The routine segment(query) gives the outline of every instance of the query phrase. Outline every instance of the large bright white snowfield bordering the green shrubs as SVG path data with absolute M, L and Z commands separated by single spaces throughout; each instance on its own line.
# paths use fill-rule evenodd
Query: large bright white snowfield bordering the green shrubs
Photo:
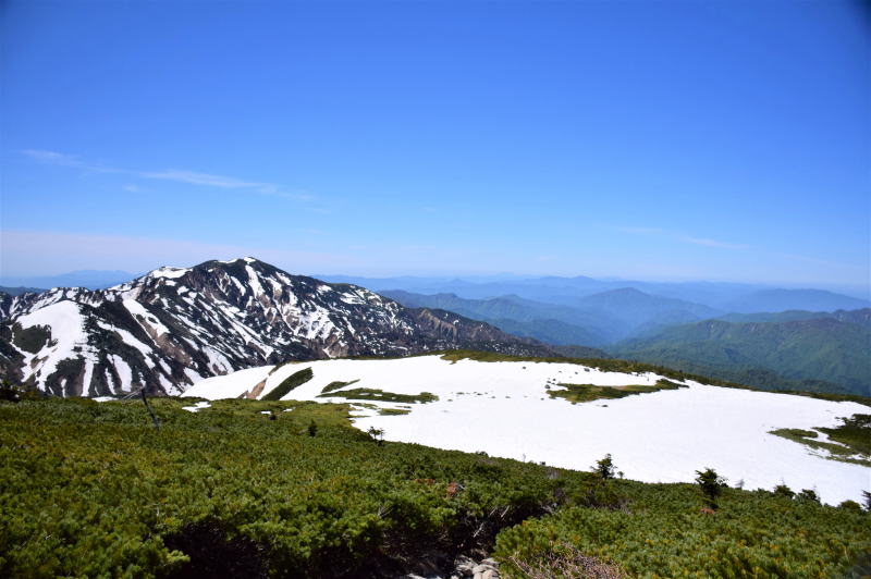
M 837 504 L 861 500 L 871 490 L 871 469 L 826 459 L 823 452 L 770 434 L 781 428 L 834 427 L 838 418 L 868 414 L 856 403 L 835 403 L 686 382 L 689 387 L 572 404 L 551 398 L 555 383 L 603 386 L 649 384 L 652 373 L 603 372 L 573 364 L 499 361 L 451 362 L 440 356 L 388 360 L 318 360 L 265 366 L 209 378 L 184 396 L 236 398 L 266 380 L 260 397 L 294 372 L 311 368 L 314 378 L 283 399 L 348 402 L 318 397 L 331 382 L 358 382 L 342 390 L 378 389 L 397 394 L 429 392 L 427 404 L 360 401 L 407 408 L 406 415 L 379 415 L 358 407 L 354 423 L 384 430 L 390 441 L 588 470 L 611 454 L 628 479 L 688 482 L 696 470 L 714 468 L 735 485 L 768 489 L 785 483 L 814 489 Z M 271 373 L 270 373 L 271 372 Z M 341 392 L 341 390 L 339 391 Z M 203 411 L 208 411 L 204 409 Z M 821 434 L 824 440 L 824 435 Z

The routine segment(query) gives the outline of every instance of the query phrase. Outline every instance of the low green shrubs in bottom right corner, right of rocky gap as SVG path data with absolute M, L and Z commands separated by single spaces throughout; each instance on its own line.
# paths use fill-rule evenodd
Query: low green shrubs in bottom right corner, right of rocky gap
M 495 556 L 511 577 L 867 577 L 871 531 L 858 504 L 826 507 L 698 475 L 698 485 L 588 483 L 555 514 L 502 531 Z

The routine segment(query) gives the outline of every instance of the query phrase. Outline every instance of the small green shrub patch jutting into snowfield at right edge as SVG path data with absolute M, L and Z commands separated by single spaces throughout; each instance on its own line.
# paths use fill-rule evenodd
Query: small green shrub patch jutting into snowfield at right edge
M 810 448 L 827 451 L 825 457 L 832 460 L 871 467 L 871 415 L 852 415 L 849 418 L 842 418 L 841 422 L 835 428 L 814 429 L 834 442 L 817 440 L 820 434 L 814 430 L 782 428 L 771 433 Z

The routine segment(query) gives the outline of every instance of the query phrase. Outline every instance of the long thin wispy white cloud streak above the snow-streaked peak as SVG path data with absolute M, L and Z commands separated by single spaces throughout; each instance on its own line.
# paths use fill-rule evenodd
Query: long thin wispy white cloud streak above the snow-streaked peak
M 56 151 L 26 149 L 21 151 L 36 161 L 49 163 L 60 167 L 72 167 L 84 169 L 87 171 L 100 173 L 124 173 L 134 177 L 171 181 L 174 183 L 184 183 L 187 185 L 199 185 L 206 187 L 218 187 L 222 189 L 246 189 L 261 195 L 274 195 L 277 197 L 284 197 L 287 199 L 296 199 L 300 201 L 311 200 L 315 197 L 308 192 L 302 190 L 287 190 L 273 183 L 262 183 L 254 181 L 245 181 L 236 177 L 229 177 L 224 175 L 212 175 L 209 173 L 199 173 L 196 171 L 185 171 L 180 169 L 167 169 L 163 171 L 133 171 L 130 169 L 118 169 L 106 167 L 96 163 L 89 163 L 81 158 Z M 135 193 L 136 185 L 124 186 L 126 190 Z

